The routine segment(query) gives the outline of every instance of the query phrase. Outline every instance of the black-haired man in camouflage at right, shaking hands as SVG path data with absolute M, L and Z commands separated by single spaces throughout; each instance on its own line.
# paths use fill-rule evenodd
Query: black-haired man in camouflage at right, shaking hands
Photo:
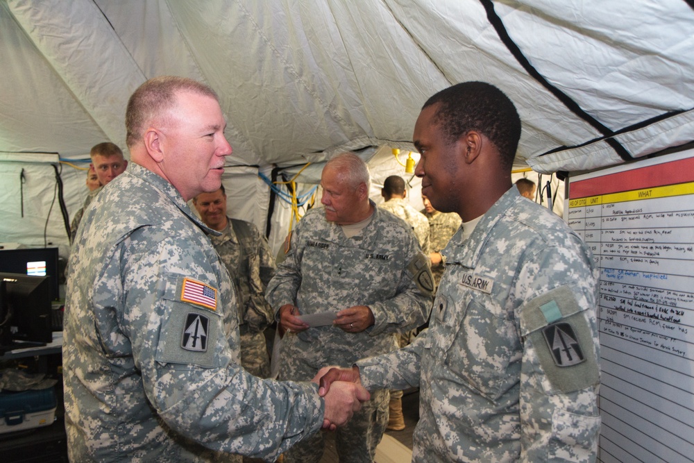
M 409 346 L 332 369 L 367 389 L 420 387 L 414 462 L 592 462 L 600 431 L 598 273 L 581 238 L 511 183 L 521 120 L 482 82 L 448 87 L 414 127 L 415 174 L 461 230 L 430 327 Z

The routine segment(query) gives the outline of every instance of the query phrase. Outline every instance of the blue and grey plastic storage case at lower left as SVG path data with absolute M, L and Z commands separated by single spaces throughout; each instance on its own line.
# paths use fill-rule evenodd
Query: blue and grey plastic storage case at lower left
M 55 416 L 56 391 L 53 387 L 0 392 L 0 434 L 49 426 Z

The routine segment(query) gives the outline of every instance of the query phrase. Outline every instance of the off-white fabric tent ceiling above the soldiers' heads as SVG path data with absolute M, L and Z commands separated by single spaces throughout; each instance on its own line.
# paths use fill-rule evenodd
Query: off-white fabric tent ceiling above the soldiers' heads
M 425 99 L 469 80 L 514 100 L 517 164 L 537 171 L 694 140 L 682 0 L 0 0 L 0 63 L 10 153 L 124 147 L 128 96 L 162 74 L 219 92 L 230 165 L 412 149 Z

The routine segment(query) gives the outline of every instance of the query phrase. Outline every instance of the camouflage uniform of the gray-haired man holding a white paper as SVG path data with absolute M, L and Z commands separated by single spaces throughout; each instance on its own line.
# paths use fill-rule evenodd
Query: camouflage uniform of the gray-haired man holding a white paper
M 369 355 L 392 351 L 397 332 L 420 326 L 432 303 L 431 271 L 407 224 L 375 208 L 371 222 L 348 239 L 325 221 L 323 208 L 310 210 L 291 234 L 266 298 L 273 308 L 294 304 L 301 314 L 339 312 L 368 305 L 375 324 L 349 333 L 333 326 L 309 328 L 282 339 L 280 378 L 310 379 L 321 367 L 350 366 Z M 387 390 L 372 393 L 346 426 L 337 430 L 341 462 L 371 462 L 388 420 Z M 318 462 L 321 434 L 285 453 L 287 462 Z

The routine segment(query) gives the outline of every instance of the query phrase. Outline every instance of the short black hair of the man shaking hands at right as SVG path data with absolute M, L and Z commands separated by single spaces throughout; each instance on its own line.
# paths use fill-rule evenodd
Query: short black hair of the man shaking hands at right
M 463 82 L 434 94 L 422 109 L 436 104 L 439 108 L 432 122 L 440 124 L 447 142 L 456 142 L 468 131 L 480 131 L 498 149 L 502 165 L 513 166 L 521 118 L 504 92 L 486 82 Z

